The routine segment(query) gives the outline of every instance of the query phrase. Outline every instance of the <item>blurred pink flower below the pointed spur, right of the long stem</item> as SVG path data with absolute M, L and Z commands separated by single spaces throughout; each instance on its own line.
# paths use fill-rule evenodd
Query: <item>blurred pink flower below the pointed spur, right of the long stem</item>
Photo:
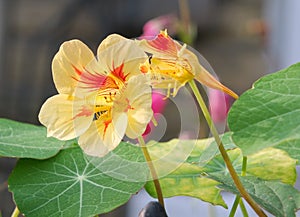
M 208 89 L 209 110 L 215 123 L 226 121 L 232 98 L 216 89 Z

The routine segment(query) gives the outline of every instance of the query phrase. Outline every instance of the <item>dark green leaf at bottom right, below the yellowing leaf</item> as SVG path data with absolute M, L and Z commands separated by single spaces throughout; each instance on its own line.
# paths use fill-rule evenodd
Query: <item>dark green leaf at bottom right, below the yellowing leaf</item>
M 228 175 L 213 175 L 212 178 L 222 183 L 220 188 L 238 194 Z M 252 198 L 274 216 L 294 217 L 295 212 L 300 209 L 300 192 L 293 186 L 256 177 L 240 178 Z

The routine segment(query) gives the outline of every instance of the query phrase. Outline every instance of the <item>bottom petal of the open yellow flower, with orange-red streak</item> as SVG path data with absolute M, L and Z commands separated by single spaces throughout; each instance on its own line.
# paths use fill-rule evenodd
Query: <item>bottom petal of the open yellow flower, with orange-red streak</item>
M 79 137 L 78 144 L 90 156 L 103 157 L 121 142 L 127 126 L 127 117 L 121 115 L 117 124 L 109 120 L 93 121 L 90 128 Z

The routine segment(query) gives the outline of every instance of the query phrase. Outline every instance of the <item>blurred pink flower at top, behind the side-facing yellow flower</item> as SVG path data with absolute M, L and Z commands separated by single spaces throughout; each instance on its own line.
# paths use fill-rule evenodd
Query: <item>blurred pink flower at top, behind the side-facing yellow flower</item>
M 143 34 L 140 39 L 151 39 L 159 34 L 162 29 L 168 29 L 168 32 L 172 35 L 176 32 L 177 18 L 172 14 L 162 15 L 154 19 L 149 20 L 143 27 Z

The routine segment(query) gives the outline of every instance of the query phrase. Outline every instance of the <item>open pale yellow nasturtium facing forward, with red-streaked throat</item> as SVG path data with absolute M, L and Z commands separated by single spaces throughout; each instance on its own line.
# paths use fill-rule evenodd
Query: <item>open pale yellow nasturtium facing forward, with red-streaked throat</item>
M 139 70 L 146 59 L 134 41 L 117 34 L 101 42 L 96 57 L 79 40 L 64 42 L 52 62 L 58 94 L 39 113 L 47 135 L 79 137 L 84 152 L 99 157 L 125 134 L 141 136 L 153 116 L 149 80 Z

